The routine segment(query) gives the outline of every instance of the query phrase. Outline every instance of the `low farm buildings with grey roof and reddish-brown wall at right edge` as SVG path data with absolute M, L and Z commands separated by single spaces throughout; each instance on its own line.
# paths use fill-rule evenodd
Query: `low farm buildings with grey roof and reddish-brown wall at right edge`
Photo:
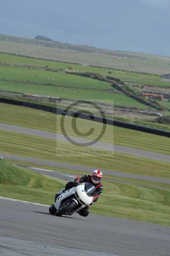
M 142 91 L 143 96 L 147 96 L 154 100 L 170 101 L 170 91 L 158 90 L 152 87 L 144 87 Z

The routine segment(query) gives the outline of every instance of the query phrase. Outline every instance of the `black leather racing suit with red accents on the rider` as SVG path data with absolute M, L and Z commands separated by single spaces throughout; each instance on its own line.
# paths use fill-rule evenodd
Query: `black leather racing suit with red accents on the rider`
M 82 183 L 82 182 L 88 182 L 88 183 L 91 183 L 93 186 L 95 186 L 96 188 L 96 194 L 95 196 L 93 197 L 93 202 L 96 202 L 98 200 L 98 196 L 102 193 L 103 191 L 103 185 L 102 183 L 93 183 L 93 181 L 91 180 L 91 175 L 84 175 L 83 177 L 81 178 L 77 178 L 74 180 L 74 182 L 78 182 L 78 183 Z M 89 206 L 87 207 L 84 207 L 82 210 L 80 210 L 78 213 L 83 216 L 83 217 L 86 217 L 88 214 L 89 214 Z

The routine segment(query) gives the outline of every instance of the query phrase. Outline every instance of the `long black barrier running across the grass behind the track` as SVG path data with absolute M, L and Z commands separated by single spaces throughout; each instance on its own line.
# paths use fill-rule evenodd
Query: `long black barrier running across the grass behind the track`
M 99 123 L 106 123 L 106 124 L 115 125 L 115 126 L 122 127 L 122 128 L 127 128 L 127 129 L 140 131 L 140 132 L 147 132 L 147 133 L 156 134 L 156 135 L 165 136 L 165 137 L 170 138 L 170 132 L 168 132 L 168 131 L 159 130 L 159 129 L 155 129 L 155 128 L 151 128 L 151 127 L 147 127 L 147 126 L 143 126 L 143 125 L 126 123 L 123 121 L 113 120 L 111 118 L 102 118 L 101 116 L 90 116 L 88 114 L 83 114 L 81 112 L 75 112 L 75 111 L 68 111 L 66 113 L 66 112 L 64 112 L 64 109 L 62 109 L 62 108 L 55 108 L 55 107 L 50 107 L 50 106 L 46 106 L 46 105 L 42 105 L 42 104 L 25 102 L 25 101 L 20 101 L 20 100 L 0 98 L 0 102 L 29 107 L 29 108 L 41 109 L 41 110 L 52 112 L 52 113 L 55 113 L 58 115 L 66 115 L 67 114 L 67 116 L 79 117 L 82 119 L 87 119 L 87 120 L 91 120 L 91 121 L 95 121 L 95 122 L 99 122 Z

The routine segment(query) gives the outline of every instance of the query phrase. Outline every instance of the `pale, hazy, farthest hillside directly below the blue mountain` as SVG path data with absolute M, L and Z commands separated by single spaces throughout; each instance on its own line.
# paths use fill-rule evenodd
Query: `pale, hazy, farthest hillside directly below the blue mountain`
M 165 58 L 151 54 L 108 51 L 95 47 L 4 35 L 0 35 L 0 52 L 79 63 L 82 66 L 94 65 L 145 72 L 153 75 L 169 73 L 170 63 L 170 58 L 168 57 Z

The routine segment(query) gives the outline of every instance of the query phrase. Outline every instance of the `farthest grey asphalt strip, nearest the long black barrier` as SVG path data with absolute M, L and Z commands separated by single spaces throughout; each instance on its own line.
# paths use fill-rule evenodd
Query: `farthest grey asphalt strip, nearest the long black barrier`
M 31 128 L 25 128 L 25 127 L 21 127 L 21 126 L 17 126 L 17 125 L 0 123 L 0 129 L 6 130 L 6 131 L 11 131 L 11 132 L 19 132 L 19 133 L 23 133 L 23 134 L 29 134 L 29 135 L 43 137 L 43 138 L 52 139 L 52 140 L 60 140 L 60 141 L 68 142 L 66 140 L 66 138 L 64 137 L 64 135 L 62 135 L 62 134 L 53 133 L 53 132 L 45 132 L 45 131 L 35 130 L 35 129 L 31 129 Z M 90 140 L 85 140 L 85 139 L 81 139 L 81 138 L 77 138 L 77 137 L 73 137 L 73 136 L 70 136 L 70 138 L 79 143 L 90 142 Z M 168 156 L 168 155 L 158 154 L 155 152 L 145 151 L 145 150 L 141 150 L 141 149 L 123 147 L 123 146 L 119 146 L 119 145 L 112 145 L 112 144 L 104 143 L 104 142 L 100 142 L 100 141 L 95 143 L 92 147 L 98 148 L 98 149 L 112 150 L 114 152 L 119 152 L 119 153 L 128 154 L 128 155 L 132 155 L 132 156 L 140 156 L 140 157 L 144 157 L 144 158 L 149 158 L 149 159 L 153 159 L 153 160 L 159 160 L 159 161 L 170 163 L 170 156 Z

